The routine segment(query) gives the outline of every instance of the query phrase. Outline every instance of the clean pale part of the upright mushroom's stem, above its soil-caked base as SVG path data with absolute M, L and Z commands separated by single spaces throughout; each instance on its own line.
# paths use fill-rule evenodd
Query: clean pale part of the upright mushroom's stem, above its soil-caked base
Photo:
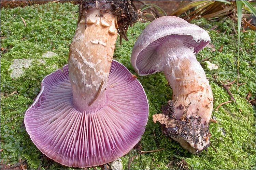
M 185 106 L 191 103 L 186 117 L 201 116 L 202 123 L 206 121 L 208 125 L 213 109 L 212 90 L 193 49 L 185 47 L 179 39 L 172 39 L 161 45 L 160 50 L 165 51 L 161 58 L 168 54 L 163 71 L 173 91 L 172 100 L 176 101 L 176 119 L 182 118 Z

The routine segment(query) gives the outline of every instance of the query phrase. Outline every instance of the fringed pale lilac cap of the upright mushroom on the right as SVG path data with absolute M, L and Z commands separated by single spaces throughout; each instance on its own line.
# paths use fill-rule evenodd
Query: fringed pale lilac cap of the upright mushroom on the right
M 182 18 L 163 16 L 152 21 L 138 37 L 131 53 L 131 64 L 139 75 L 162 71 L 162 61 L 156 50 L 170 39 L 178 38 L 195 54 L 210 42 L 210 36 L 202 28 Z

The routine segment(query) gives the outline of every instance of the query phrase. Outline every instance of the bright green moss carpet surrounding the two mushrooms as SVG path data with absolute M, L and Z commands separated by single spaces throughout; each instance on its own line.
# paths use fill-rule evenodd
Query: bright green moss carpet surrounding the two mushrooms
M 1 52 L 1 158 L 4 163 L 16 163 L 18 158 L 26 159 L 29 169 L 37 169 L 42 159 L 42 153 L 30 140 L 24 126 L 24 111 L 32 104 L 38 95 L 42 79 L 49 73 L 67 64 L 69 46 L 76 29 L 78 8 L 71 3 L 47 3 L 44 5 L 26 6 L 24 8 L 1 9 L 1 47 L 8 52 Z M 21 19 L 26 21 L 26 27 Z M 223 22 L 210 22 L 205 19 L 193 20 L 193 23 L 209 31 L 211 43 L 216 51 L 205 48 L 197 54 L 198 61 L 205 57 L 211 57 L 211 63 L 217 64 L 217 70 L 203 68 L 209 79 L 213 97 L 214 109 L 221 103 L 230 100 L 223 87 L 214 81 L 221 80 L 224 83 L 237 79 L 237 35 L 233 33 L 232 20 Z M 148 23 L 136 23 L 128 30 L 129 41 L 119 44 L 116 41 L 114 59 L 124 64 L 131 73 L 135 74 L 130 55 L 132 47 L 141 31 Z M 210 30 L 218 25 L 218 33 Z M 235 27 L 236 28 L 236 27 Z M 35 39 L 37 38 L 37 40 Z M 25 39 L 22 39 L 25 38 Z M 210 123 L 212 133 L 211 142 L 218 153 L 209 147 L 208 152 L 200 155 L 190 154 L 179 143 L 170 140 L 162 134 L 159 123 L 152 121 L 152 115 L 160 112 L 162 105 L 172 99 L 172 90 L 167 85 L 167 80 L 162 72 L 138 76 L 143 85 L 149 103 L 149 118 L 145 133 L 139 144 L 143 151 L 165 148 L 165 150 L 139 154 L 137 149 L 132 149 L 121 157 L 123 167 L 127 169 L 131 156 L 133 159 L 131 169 L 176 169 L 178 162 L 184 159 L 188 168 L 193 169 L 255 169 L 255 107 L 246 101 L 246 94 L 251 91 L 255 98 L 255 31 L 241 32 L 240 42 L 240 77 L 239 86 L 236 84 L 230 88 L 236 99 L 236 103 L 228 103 L 214 111 L 212 116 L 218 124 Z M 222 48 L 222 52 L 218 49 Z M 52 50 L 54 47 L 54 50 Z M 57 53 L 57 56 L 43 58 L 46 51 Z M 14 59 L 27 58 L 33 60 L 32 66 L 24 69 L 25 72 L 16 79 L 10 78 L 10 66 Z M 43 60 L 45 64 L 38 60 Z M 5 98 L 2 95 L 14 94 Z M 241 110 L 241 111 L 240 111 Z M 20 116 L 18 116 L 20 115 Z M 16 117 L 15 117 L 16 116 Z M 5 122 L 8 121 L 8 122 Z M 77 169 L 62 166 L 53 160 L 44 158 L 42 169 Z M 90 168 L 93 169 L 93 168 Z M 100 169 L 98 166 L 97 169 Z

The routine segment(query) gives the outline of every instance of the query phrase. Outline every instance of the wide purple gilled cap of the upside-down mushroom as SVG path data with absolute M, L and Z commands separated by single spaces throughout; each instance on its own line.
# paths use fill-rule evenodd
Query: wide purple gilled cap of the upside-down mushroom
M 62 71 L 63 70 L 63 71 Z M 49 158 L 66 166 L 91 167 L 128 153 L 141 139 L 148 102 L 140 82 L 112 61 L 102 108 L 74 108 L 68 65 L 47 75 L 24 117 L 33 143 Z

